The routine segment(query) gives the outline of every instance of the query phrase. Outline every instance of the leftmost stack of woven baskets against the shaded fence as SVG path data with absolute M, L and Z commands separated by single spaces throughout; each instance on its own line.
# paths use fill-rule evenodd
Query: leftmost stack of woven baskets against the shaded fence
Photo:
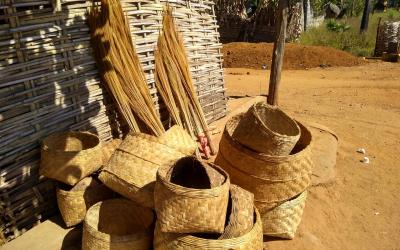
M 58 181 L 57 204 L 67 227 L 81 223 L 95 203 L 113 197 L 95 172 L 119 143 L 116 139 L 102 144 L 88 132 L 57 133 L 43 140 L 40 173 Z

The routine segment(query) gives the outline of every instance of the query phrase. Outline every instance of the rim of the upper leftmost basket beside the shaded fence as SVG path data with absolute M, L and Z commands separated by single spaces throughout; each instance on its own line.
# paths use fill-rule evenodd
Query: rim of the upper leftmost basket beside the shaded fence
M 73 151 L 65 151 L 65 150 L 55 149 L 55 148 L 49 147 L 51 145 L 51 143 L 49 143 L 49 142 L 54 140 L 55 137 L 57 137 L 57 136 L 61 136 L 61 135 L 82 135 L 82 134 L 91 136 L 92 138 L 95 138 L 96 139 L 96 145 L 94 145 L 93 147 L 86 148 L 86 149 L 73 150 Z M 81 153 L 81 152 L 91 151 L 91 150 L 99 147 L 100 144 L 101 144 L 100 138 L 94 133 L 91 133 L 91 132 L 88 132 L 88 131 L 66 131 L 66 132 L 53 133 L 53 134 L 47 136 L 42 142 L 42 150 L 45 150 L 45 151 L 48 151 L 48 152 L 63 153 L 63 154 L 77 154 L 77 153 Z

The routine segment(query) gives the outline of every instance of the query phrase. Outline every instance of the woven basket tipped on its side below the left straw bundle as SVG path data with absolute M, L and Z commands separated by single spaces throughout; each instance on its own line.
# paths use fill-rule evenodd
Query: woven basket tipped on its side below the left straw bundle
M 160 143 L 155 136 L 129 134 L 103 168 L 99 178 L 122 196 L 153 208 L 157 169 L 184 156 L 176 149 Z

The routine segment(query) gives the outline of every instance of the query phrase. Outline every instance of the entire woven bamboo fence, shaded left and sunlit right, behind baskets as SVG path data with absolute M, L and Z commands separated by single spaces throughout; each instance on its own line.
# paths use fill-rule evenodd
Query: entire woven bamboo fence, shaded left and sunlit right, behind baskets
M 165 2 L 123 1 L 161 116 L 153 51 Z M 225 115 L 226 98 L 214 5 L 200 0 L 169 3 L 183 31 L 206 118 L 216 120 Z M 53 184 L 38 174 L 44 137 L 88 130 L 105 141 L 121 134 L 92 55 L 86 15 L 91 4 L 0 0 L 0 229 L 7 240 L 57 211 Z

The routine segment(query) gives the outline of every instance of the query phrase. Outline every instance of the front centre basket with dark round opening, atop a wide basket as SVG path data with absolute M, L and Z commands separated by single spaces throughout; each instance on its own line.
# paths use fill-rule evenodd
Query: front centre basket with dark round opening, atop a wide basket
M 154 193 L 160 230 L 222 233 L 229 185 L 229 176 L 224 170 L 194 157 L 160 167 Z

